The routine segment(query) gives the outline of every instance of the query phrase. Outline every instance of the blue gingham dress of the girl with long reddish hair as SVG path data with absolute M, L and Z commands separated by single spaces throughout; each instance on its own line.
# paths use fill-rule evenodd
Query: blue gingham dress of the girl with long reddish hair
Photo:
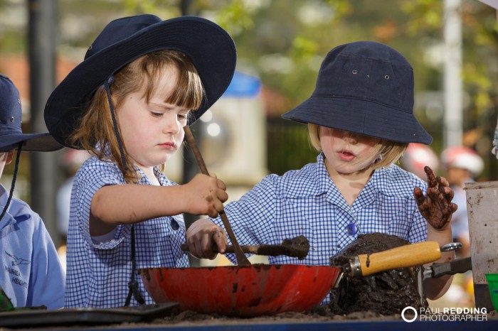
M 140 171 L 140 170 L 139 170 Z M 152 185 L 140 171 L 139 185 Z M 154 174 L 164 186 L 176 185 L 158 168 Z M 89 229 L 90 203 L 95 192 L 105 185 L 124 184 L 117 165 L 93 156 L 75 177 L 71 192 L 68 228 L 67 281 L 65 306 L 112 308 L 123 306 L 132 273 L 131 225 L 118 225 L 109 242 L 92 242 Z M 185 224 L 181 215 L 158 217 L 134 224 L 135 261 L 139 268 L 186 267 L 189 259 L 180 245 L 185 242 Z M 154 301 L 135 276 L 145 303 Z M 138 305 L 132 300 L 130 305 Z

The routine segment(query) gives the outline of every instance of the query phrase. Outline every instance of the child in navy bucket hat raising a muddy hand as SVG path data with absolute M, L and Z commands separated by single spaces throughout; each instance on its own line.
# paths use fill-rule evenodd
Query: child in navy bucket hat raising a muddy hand
M 428 188 L 393 164 L 408 143 L 432 140 L 413 116 L 413 70 L 396 50 L 370 41 L 337 46 L 324 59 L 312 96 L 283 117 L 308 125 L 320 152 L 317 163 L 269 175 L 226 205 L 240 244 L 280 244 L 304 235 L 311 246 L 306 259 L 270 256 L 270 263 L 329 265 L 359 234 L 452 242 L 456 206 L 447 181 L 427 169 Z M 196 230 L 209 223 L 194 223 L 187 242 L 198 240 L 202 232 Z M 193 253 L 203 256 L 210 249 L 206 243 Z M 441 261 L 450 259 L 452 252 L 443 253 Z M 449 282 L 428 280 L 428 298 L 443 295 Z

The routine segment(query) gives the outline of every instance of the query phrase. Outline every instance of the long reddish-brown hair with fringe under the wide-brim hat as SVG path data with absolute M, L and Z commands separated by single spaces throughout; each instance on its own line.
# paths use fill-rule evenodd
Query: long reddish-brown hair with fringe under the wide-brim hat
M 177 50 L 157 50 L 125 65 L 113 76 L 110 91 L 112 100 L 115 102 L 116 112 L 119 112 L 119 106 L 124 102 L 127 94 L 138 92 L 142 88 L 144 88 L 143 97 L 146 102 L 149 102 L 149 99 L 156 92 L 161 74 L 167 66 L 176 67 L 179 77 L 174 91 L 164 102 L 193 110 L 201 107 L 204 89 L 201 78 L 191 60 Z M 121 136 L 119 121 L 117 124 Z M 133 163 L 123 143 L 124 160 L 128 165 L 127 170 L 124 169 L 109 101 L 103 85 L 92 96 L 85 115 L 80 119 L 77 129 L 70 135 L 69 141 L 74 146 L 79 145 L 80 148 L 89 151 L 102 161 L 116 163 L 127 183 L 137 183 L 139 179 L 137 170 L 132 166 Z M 105 146 L 109 146 L 110 156 L 105 155 Z M 161 165 L 160 168 L 161 171 L 164 170 L 164 165 Z

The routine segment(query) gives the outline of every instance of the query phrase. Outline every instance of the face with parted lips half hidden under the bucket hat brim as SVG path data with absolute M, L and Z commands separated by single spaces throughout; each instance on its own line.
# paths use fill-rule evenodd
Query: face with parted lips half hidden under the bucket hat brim
M 320 144 L 328 168 L 337 173 L 356 173 L 369 168 L 377 158 L 377 139 L 349 131 L 320 126 Z

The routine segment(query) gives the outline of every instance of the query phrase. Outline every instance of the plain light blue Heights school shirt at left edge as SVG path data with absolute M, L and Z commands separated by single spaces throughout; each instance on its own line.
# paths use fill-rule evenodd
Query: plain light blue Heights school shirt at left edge
M 0 210 L 8 197 L 0 185 Z M 41 217 L 15 198 L 0 221 L 0 264 L 0 286 L 14 307 L 63 307 L 65 273 L 50 234 Z

